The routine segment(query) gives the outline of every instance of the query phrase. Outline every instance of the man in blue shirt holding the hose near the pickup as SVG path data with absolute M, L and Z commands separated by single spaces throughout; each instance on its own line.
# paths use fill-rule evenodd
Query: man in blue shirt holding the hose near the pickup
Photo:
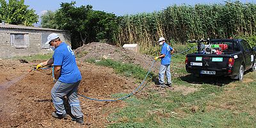
M 170 45 L 166 44 L 165 39 L 163 37 L 159 38 L 158 43 L 159 43 L 159 45 L 162 45 L 160 56 L 154 58 L 154 60 L 161 58 L 161 65 L 159 68 L 159 85 L 158 86 L 162 87 L 162 88 L 166 88 L 167 86 L 172 87 L 170 62 L 172 59 L 172 54 L 174 52 L 174 49 Z M 164 73 L 166 73 L 166 77 L 167 77 L 166 84 L 164 84 Z

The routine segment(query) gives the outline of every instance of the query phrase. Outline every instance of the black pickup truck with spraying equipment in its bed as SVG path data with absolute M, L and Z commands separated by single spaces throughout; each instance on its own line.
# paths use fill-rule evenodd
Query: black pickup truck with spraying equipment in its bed
M 200 76 L 230 76 L 243 80 L 245 70 L 256 68 L 255 47 L 243 39 L 193 40 L 198 51 L 186 56 L 186 71 Z

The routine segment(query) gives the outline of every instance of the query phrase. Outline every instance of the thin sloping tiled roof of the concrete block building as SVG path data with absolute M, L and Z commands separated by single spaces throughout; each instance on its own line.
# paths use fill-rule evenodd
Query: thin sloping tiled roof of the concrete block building
M 1 28 L 10 28 L 10 29 L 31 29 L 31 30 L 45 30 L 45 31 L 63 31 L 59 29 L 51 29 L 51 28 L 39 28 L 39 27 L 31 27 L 31 26 L 18 26 L 18 25 L 13 25 L 13 24 L 0 24 L 0 29 Z

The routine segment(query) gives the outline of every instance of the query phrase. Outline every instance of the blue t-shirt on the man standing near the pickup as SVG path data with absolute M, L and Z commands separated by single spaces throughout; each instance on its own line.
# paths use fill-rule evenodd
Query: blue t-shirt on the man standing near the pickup
M 161 65 L 170 65 L 171 62 L 171 58 L 172 58 L 172 54 L 171 51 L 173 50 L 173 48 L 164 43 L 161 49 L 161 54 L 165 54 L 164 58 L 161 58 Z

